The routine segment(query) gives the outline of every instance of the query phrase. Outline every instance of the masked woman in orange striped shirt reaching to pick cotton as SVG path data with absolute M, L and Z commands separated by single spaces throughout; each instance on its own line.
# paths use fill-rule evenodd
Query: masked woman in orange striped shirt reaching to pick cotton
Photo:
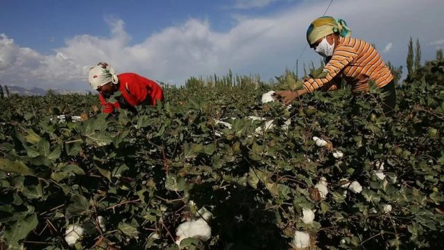
M 384 99 L 384 113 L 395 108 L 395 83 L 390 69 L 376 49 L 363 40 L 350 38 L 350 29 L 342 19 L 320 17 L 307 30 L 307 41 L 311 48 L 325 58 L 325 76 L 306 78 L 304 88 L 296 91 L 279 91 L 284 103 L 315 90 L 336 90 L 341 78 L 352 85 L 354 92 L 368 91 L 369 82 L 375 81 L 377 88 L 388 92 Z

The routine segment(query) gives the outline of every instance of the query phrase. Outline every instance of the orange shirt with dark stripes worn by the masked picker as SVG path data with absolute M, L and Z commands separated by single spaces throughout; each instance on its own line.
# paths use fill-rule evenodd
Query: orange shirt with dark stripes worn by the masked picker
M 367 42 L 356 38 L 339 37 L 333 56 L 325 65 L 325 78 L 307 78 L 304 87 L 313 92 L 318 88 L 335 90 L 338 77 L 352 85 L 353 91 L 368 91 L 368 82 L 375 81 L 382 88 L 393 79 L 390 69 L 382 61 L 376 49 Z

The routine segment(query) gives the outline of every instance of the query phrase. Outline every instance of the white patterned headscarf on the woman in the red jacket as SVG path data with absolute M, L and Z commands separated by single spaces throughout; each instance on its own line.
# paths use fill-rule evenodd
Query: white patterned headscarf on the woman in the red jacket
M 97 66 L 89 69 L 89 85 L 97 90 L 106 83 L 119 83 L 119 78 L 114 69 L 108 63 L 99 63 Z

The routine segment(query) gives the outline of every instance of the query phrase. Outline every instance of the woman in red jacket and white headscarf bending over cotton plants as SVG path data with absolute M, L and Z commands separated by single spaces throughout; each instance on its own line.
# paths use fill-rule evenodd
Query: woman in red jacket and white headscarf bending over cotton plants
M 135 111 L 135 106 L 163 101 L 163 90 L 148 78 L 135 73 L 117 74 L 108 63 L 99 63 L 89 69 L 89 85 L 99 91 L 99 99 L 104 113 L 114 113 L 117 108 Z M 106 101 L 114 92 L 120 91 L 117 102 Z

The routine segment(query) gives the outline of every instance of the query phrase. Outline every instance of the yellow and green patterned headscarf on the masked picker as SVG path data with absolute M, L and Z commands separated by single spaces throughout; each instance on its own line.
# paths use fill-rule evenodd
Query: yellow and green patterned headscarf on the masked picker
M 311 45 L 317 40 L 330 35 L 339 33 L 342 37 L 349 37 L 352 34 L 347 23 L 343 19 L 334 19 L 333 17 L 319 17 L 314 20 L 307 29 L 307 42 Z

